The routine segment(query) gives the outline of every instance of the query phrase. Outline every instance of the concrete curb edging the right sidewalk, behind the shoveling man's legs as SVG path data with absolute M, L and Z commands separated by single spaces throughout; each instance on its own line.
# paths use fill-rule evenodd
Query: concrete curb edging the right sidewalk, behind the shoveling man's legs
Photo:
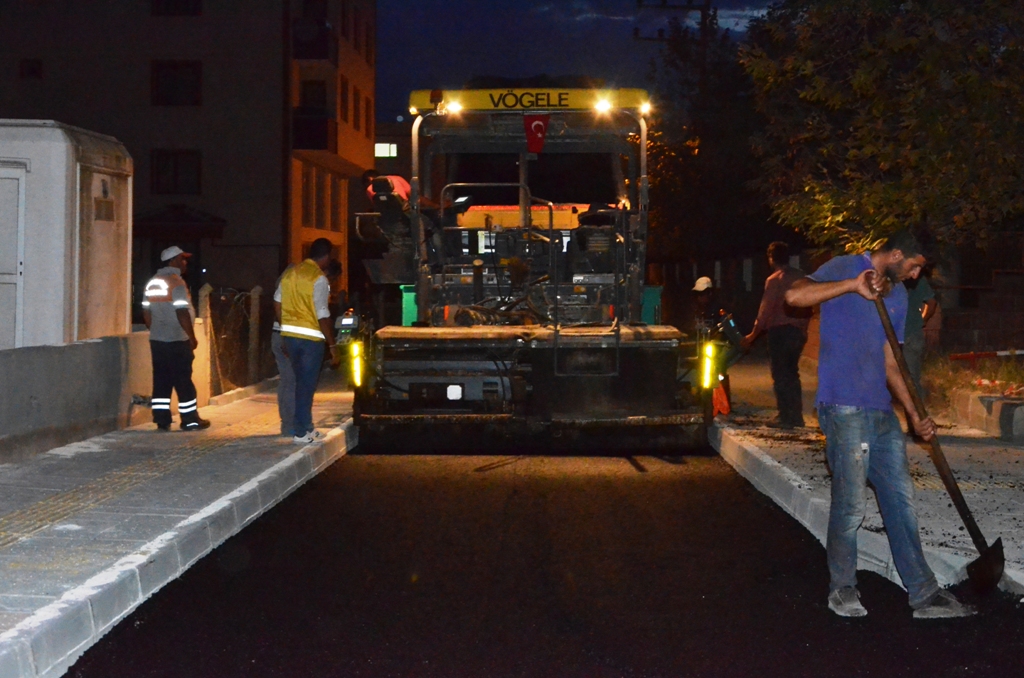
M 708 434 L 712 447 L 722 459 L 759 492 L 796 518 L 824 546 L 828 532 L 827 501 L 813 497 L 811 486 L 803 478 L 757 446 L 740 441 L 731 428 L 716 424 Z M 896 585 L 903 586 L 885 535 L 861 528 L 857 534 L 857 546 L 858 569 L 878 573 Z M 967 563 L 973 560 L 929 548 L 927 545 L 925 558 L 935 571 L 940 586 L 950 586 L 967 579 Z M 1024 593 L 1024 571 L 1007 569 L 999 588 L 1018 594 Z

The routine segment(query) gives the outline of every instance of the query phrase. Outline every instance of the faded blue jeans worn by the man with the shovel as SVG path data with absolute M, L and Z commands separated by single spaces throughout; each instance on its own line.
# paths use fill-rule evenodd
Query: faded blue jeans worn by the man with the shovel
M 818 421 L 833 474 L 825 546 L 830 590 L 857 585 L 857 528 L 864 521 L 869 481 L 910 606 L 921 606 L 939 586 L 921 548 L 906 438 L 896 414 L 819 404 Z

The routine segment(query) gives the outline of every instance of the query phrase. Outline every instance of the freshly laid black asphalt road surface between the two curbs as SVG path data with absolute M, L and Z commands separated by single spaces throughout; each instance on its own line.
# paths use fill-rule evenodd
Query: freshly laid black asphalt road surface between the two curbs
M 821 546 L 718 458 L 349 455 L 72 668 L 118 676 L 1013 676 L 1015 598 L 825 606 Z

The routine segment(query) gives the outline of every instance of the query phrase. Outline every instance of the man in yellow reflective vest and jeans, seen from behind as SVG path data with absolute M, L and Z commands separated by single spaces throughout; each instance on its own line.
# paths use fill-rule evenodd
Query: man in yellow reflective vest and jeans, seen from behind
M 324 435 L 313 428 L 312 410 L 325 344 L 331 350 L 332 367 L 341 362 L 328 307 L 331 286 L 325 276 L 333 247 L 326 238 L 313 241 L 309 257 L 286 270 L 273 293 L 284 353 L 295 374 L 292 440 L 299 444 L 313 442 Z

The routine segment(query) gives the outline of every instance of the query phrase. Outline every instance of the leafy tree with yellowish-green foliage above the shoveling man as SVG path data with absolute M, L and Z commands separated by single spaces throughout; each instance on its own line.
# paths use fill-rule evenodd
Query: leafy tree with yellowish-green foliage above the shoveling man
M 840 249 L 906 225 L 984 240 L 1024 209 L 1024 3 L 783 0 L 740 60 L 766 117 L 761 188 Z

